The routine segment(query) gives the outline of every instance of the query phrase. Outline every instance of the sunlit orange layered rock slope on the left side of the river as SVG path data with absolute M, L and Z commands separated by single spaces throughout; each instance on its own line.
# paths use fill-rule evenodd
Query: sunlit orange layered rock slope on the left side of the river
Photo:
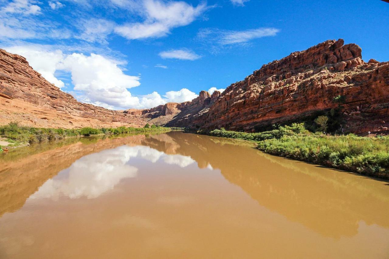
M 80 103 L 47 82 L 22 56 L 0 49 L 0 125 L 18 121 L 25 126 L 77 128 L 139 127 L 139 115 Z

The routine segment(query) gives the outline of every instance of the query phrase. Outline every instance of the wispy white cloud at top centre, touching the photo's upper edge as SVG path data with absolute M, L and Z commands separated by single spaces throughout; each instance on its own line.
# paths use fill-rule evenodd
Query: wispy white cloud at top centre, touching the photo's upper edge
M 206 9 L 205 3 L 193 7 L 182 1 L 144 0 L 145 21 L 117 26 L 115 32 L 129 40 L 163 37 L 173 28 L 189 25 Z

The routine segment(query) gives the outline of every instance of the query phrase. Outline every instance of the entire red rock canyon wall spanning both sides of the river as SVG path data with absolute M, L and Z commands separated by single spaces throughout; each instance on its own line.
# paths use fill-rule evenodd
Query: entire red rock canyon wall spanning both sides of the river
M 192 101 L 112 111 L 76 101 L 47 82 L 26 59 L 0 50 L 0 124 L 143 126 L 258 131 L 337 111 L 343 132 L 385 133 L 389 127 L 389 62 L 362 60 L 362 50 L 327 40 L 275 60 L 223 93 L 201 91 Z

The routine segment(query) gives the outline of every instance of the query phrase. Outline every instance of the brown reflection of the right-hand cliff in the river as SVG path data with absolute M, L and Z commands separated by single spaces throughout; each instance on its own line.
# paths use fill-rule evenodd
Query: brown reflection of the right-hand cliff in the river
M 389 228 L 389 186 L 347 172 L 248 152 L 237 140 L 178 133 L 145 139 L 150 147 L 219 169 L 258 203 L 324 236 L 358 232 L 360 221 Z

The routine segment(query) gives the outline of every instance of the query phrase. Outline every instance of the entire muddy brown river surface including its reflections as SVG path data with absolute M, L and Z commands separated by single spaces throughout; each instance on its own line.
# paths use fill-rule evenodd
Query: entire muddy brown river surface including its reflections
M 0 155 L 0 258 L 389 258 L 389 184 L 180 132 Z

